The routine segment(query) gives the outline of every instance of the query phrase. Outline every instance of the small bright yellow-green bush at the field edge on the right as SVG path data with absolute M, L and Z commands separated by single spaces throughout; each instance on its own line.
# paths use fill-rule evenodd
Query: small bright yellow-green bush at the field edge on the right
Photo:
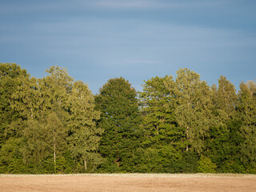
M 217 166 L 214 162 L 207 158 L 206 156 L 201 156 L 198 161 L 198 172 L 199 173 L 216 173 Z

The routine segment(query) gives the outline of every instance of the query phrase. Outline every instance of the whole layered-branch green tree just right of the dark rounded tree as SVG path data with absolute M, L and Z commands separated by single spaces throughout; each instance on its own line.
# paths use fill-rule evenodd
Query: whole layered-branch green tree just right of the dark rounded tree
M 155 158 L 152 158 L 155 162 L 144 162 L 146 166 L 151 166 L 151 171 L 158 172 L 173 169 L 171 163 L 182 157 L 181 152 L 184 148 L 184 135 L 174 118 L 173 94 L 166 89 L 166 83 L 174 83 L 173 78 L 151 78 L 145 82 L 139 95 L 145 133 L 143 148 L 146 154 L 151 149 L 155 155 Z

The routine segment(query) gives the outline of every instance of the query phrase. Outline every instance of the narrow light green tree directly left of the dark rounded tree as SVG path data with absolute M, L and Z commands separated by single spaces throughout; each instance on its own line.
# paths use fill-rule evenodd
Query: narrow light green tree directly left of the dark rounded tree
M 102 129 L 96 127 L 100 112 L 94 110 L 94 95 L 83 82 L 74 82 L 70 98 L 70 153 L 83 171 L 94 171 L 102 163 L 98 146 Z M 81 170 L 80 170 L 81 171 Z

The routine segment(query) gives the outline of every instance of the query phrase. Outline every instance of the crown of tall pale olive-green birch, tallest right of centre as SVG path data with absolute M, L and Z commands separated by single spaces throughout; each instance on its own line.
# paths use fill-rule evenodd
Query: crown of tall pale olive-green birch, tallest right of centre
M 175 84 L 170 84 L 176 99 L 175 118 L 186 133 L 186 151 L 189 148 L 202 153 L 212 123 L 210 87 L 200 81 L 199 74 L 188 69 L 177 71 Z

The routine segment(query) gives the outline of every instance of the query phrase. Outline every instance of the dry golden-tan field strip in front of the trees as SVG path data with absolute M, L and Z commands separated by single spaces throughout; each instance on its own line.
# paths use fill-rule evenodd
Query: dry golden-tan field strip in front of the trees
M 0 175 L 0 191 L 256 191 L 256 175 L 71 174 Z

